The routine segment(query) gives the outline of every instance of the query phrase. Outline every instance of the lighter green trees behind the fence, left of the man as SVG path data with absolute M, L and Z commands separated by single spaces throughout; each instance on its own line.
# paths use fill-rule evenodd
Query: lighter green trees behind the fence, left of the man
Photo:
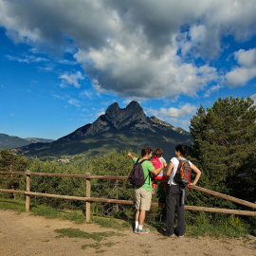
M 133 162 L 127 156 L 128 152 L 118 154 L 115 150 L 106 154 L 98 155 L 94 158 L 85 158 L 82 155 L 76 162 L 69 164 L 59 163 L 56 161 L 41 162 L 40 159 L 34 158 L 29 169 L 32 173 L 47 174 L 93 174 L 93 175 L 113 175 L 128 176 L 133 167 Z M 67 177 L 30 177 L 30 191 L 43 192 L 52 194 L 63 194 L 71 196 L 86 196 L 86 181 L 82 178 Z M 26 190 L 26 176 L 20 182 L 22 190 Z M 91 196 L 132 200 L 134 189 L 127 180 L 91 180 Z M 79 209 L 84 210 L 85 204 L 81 201 L 62 200 L 57 198 L 46 198 L 40 196 L 31 197 L 31 202 L 44 204 L 59 209 Z M 110 203 L 93 203 L 92 213 L 97 215 L 113 215 L 127 220 L 133 218 L 133 209 L 131 206 L 115 205 Z

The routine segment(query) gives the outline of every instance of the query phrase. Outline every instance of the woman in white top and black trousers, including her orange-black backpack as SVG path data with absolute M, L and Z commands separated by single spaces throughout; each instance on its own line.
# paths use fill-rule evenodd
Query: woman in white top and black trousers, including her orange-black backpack
M 186 186 L 194 186 L 200 175 L 201 171 L 192 164 L 191 161 L 185 158 L 188 147 L 185 145 L 177 145 L 175 147 L 175 155 L 171 159 L 170 165 L 167 170 L 167 177 L 169 177 L 167 191 L 166 191 L 166 236 L 174 236 L 174 213 L 175 205 L 177 209 L 177 236 L 183 237 L 186 232 L 185 223 L 185 209 L 184 204 L 186 200 Z M 184 166 L 184 170 L 181 170 Z M 191 172 L 194 172 L 195 178 L 191 183 Z M 189 173 L 189 174 L 188 174 Z

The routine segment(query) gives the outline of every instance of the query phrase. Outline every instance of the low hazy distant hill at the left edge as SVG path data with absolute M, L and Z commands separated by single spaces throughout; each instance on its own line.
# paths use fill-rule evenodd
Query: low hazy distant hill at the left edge
M 21 137 L 0 134 L 0 150 L 18 148 L 18 147 L 29 145 L 31 143 L 52 142 L 52 141 L 54 140 L 46 139 L 46 138 L 38 138 L 38 137 L 21 138 Z

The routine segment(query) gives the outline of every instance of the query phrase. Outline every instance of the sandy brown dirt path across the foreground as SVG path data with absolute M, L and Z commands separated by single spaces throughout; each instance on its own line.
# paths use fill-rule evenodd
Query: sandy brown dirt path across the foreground
M 109 232 L 114 235 L 93 239 L 59 237 L 56 229 Z M 121 234 L 119 236 L 117 233 Z M 89 245 L 91 247 L 84 246 Z M 82 249 L 83 247 L 83 249 Z M 137 235 L 132 230 L 101 228 L 97 224 L 77 225 L 62 219 L 46 219 L 27 212 L 0 210 L 0 255 L 218 255 L 256 256 L 256 238 L 212 239 L 166 238 L 157 231 Z

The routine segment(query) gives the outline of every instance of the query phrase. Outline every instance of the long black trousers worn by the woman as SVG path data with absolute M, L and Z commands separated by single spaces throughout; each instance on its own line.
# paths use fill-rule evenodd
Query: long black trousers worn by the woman
M 185 189 L 186 190 L 186 189 Z M 185 191 L 185 196 L 187 190 Z M 186 197 L 184 198 L 184 201 Z M 177 185 L 167 185 L 166 191 L 166 233 L 174 234 L 175 205 L 177 209 L 177 235 L 184 235 L 186 232 L 185 209 L 182 204 L 182 189 Z

